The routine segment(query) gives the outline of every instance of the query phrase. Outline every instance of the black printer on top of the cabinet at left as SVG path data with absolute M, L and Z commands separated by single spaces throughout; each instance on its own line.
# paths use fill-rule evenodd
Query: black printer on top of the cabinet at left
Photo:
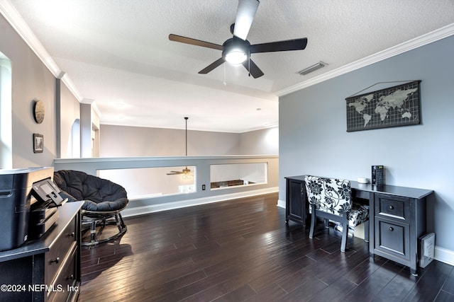
M 0 169 L 0 251 L 40 238 L 67 199 L 52 182 L 54 168 Z

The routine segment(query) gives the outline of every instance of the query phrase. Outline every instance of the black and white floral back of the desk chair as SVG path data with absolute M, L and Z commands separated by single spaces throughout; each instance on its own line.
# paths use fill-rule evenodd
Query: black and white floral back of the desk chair
M 304 181 L 308 202 L 314 204 L 316 210 L 338 216 L 350 211 L 352 190 L 349 180 L 306 175 Z

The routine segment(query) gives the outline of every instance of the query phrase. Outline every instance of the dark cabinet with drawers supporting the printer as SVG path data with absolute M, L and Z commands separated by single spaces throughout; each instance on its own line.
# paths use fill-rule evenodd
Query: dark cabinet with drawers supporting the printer
M 0 301 L 76 301 L 80 286 L 80 208 L 68 202 L 38 240 L 0 252 Z

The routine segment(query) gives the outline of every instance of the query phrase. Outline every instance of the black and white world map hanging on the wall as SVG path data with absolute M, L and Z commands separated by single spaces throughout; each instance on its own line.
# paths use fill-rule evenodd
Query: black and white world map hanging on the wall
M 347 132 L 420 124 L 421 81 L 345 98 Z

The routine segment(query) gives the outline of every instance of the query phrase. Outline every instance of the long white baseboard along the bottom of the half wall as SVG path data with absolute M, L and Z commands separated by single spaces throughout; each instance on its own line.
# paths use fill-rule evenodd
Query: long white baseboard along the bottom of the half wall
M 184 207 L 193 207 L 200 204 L 211 204 L 213 202 L 225 202 L 226 200 L 231 199 L 238 199 L 243 197 L 252 197 L 257 196 L 260 194 L 268 194 L 268 193 L 275 193 L 279 192 L 279 187 L 270 187 L 266 189 L 260 190 L 250 190 L 245 192 L 236 192 L 231 194 L 222 194 L 210 197 L 202 197 L 196 199 L 186 199 L 181 200 L 178 202 L 166 202 L 163 204 L 150 204 L 149 206 L 144 207 L 133 207 L 133 208 L 126 208 L 121 211 L 121 216 L 123 217 L 131 217 L 131 216 L 138 216 L 144 214 L 155 213 L 158 211 L 167 211 L 172 209 L 180 209 Z

